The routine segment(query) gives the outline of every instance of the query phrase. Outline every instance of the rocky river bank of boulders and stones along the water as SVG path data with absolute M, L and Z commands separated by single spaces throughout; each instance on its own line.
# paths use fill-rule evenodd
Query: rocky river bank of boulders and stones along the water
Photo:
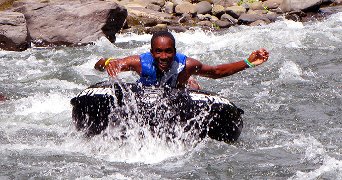
M 8 4 L 8 0 L 1 3 Z M 80 46 L 117 33 L 221 31 L 285 18 L 323 20 L 342 11 L 341 0 L 25 0 L 0 11 L 0 49 Z

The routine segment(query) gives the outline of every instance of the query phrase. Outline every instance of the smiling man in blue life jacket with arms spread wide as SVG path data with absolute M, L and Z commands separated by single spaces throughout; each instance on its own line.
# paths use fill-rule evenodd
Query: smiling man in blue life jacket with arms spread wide
M 198 60 L 176 53 L 175 40 L 171 33 L 159 31 L 152 36 L 151 52 L 123 59 L 102 58 L 95 64 L 95 69 L 101 72 L 107 70 L 112 77 L 121 71 L 135 71 L 140 75 L 139 82 L 146 85 L 169 85 L 201 89 L 195 79 L 189 79 L 192 74 L 221 78 L 249 67 L 255 67 L 267 61 L 269 52 L 266 49 L 254 51 L 248 59 L 235 63 L 209 66 Z

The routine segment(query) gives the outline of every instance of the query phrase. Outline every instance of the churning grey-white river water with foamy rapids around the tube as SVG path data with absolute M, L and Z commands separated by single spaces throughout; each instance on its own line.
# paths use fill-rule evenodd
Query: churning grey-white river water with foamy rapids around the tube
M 269 60 L 221 79 L 194 76 L 204 90 L 244 109 L 233 143 L 114 141 L 75 130 L 70 100 L 108 80 L 102 57 L 150 49 L 151 35 L 117 35 L 84 47 L 0 51 L 1 180 L 342 180 L 342 13 L 322 22 L 280 20 L 227 31 L 172 33 L 177 52 L 217 65 L 257 49 Z M 138 75 L 123 72 L 119 80 Z M 106 130 L 111 132 L 111 128 Z

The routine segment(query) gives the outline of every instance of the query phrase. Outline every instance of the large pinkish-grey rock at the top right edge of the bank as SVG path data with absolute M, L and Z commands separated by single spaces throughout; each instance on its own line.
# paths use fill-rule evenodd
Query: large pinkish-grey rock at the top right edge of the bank
M 304 12 L 317 12 L 322 3 L 323 0 L 284 0 L 278 8 L 283 13 L 298 9 Z

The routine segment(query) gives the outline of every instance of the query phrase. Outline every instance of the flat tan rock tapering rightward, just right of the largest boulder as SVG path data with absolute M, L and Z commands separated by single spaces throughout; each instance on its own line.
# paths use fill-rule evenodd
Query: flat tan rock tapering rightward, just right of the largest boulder
M 167 13 L 157 12 L 143 7 L 127 8 L 128 28 L 144 25 L 156 26 L 157 24 L 178 24 L 178 18 Z

